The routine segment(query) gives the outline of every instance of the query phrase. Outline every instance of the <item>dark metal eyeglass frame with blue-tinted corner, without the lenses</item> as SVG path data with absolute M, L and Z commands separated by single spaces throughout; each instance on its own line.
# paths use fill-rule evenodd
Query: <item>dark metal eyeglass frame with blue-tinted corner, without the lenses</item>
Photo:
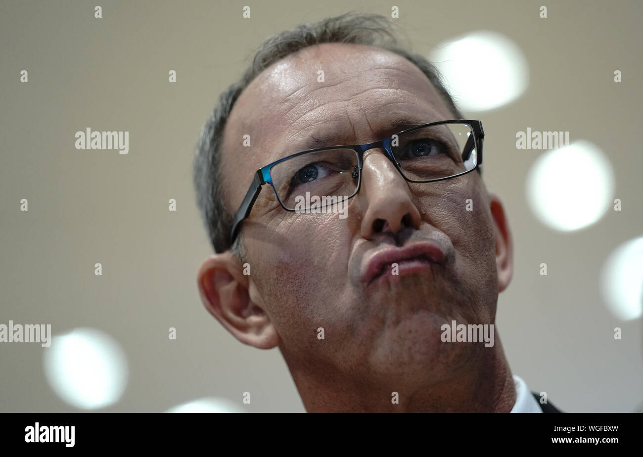
M 433 125 L 443 125 L 443 124 L 453 124 L 453 123 L 464 123 L 469 125 L 471 127 L 471 130 L 473 130 L 473 146 L 475 147 L 476 150 L 476 166 L 471 168 L 471 170 L 466 170 L 466 172 L 458 173 L 455 175 L 447 176 L 447 177 L 440 177 L 440 178 L 433 178 L 433 179 L 426 179 L 422 181 L 415 181 L 413 179 L 408 179 L 406 176 L 404 176 L 404 172 L 401 170 L 400 165 L 397 161 L 395 161 L 394 154 L 391 150 L 391 142 L 394 136 L 401 136 L 402 134 L 406 134 L 408 132 L 412 132 L 413 130 L 417 129 L 424 129 L 426 127 L 432 127 Z M 402 175 L 402 177 L 410 182 L 410 183 L 431 183 L 433 181 L 444 181 L 444 179 L 451 179 L 453 177 L 458 177 L 462 176 L 464 174 L 473 172 L 473 170 L 478 170 L 482 174 L 482 140 L 484 139 L 484 130 L 482 129 L 482 122 L 479 120 L 470 120 L 470 119 L 455 119 L 455 120 L 446 120 L 446 121 L 438 121 L 438 122 L 431 122 L 428 124 L 421 124 L 421 125 L 414 125 L 410 129 L 403 130 L 401 132 L 397 132 L 394 135 L 389 136 L 388 138 L 381 139 L 379 141 L 375 141 L 374 143 L 368 143 L 366 145 L 345 145 L 345 146 L 327 146 L 327 147 L 321 147 L 321 148 L 315 148 L 315 149 L 310 149 L 310 150 L 305 150 L 302 152 L 297 152 L 296 154 L 291 154 L 290 156 L 283 157 L 282 159 L 279 159 L 277 161 L 274 161 L 272 163 L 269 163 L 268 165 L 262 166 L 255 172 L 255 175 L 253 176 L 252 183 L 250 184 L 248 188 L 248 192 L 246 192 L 246 196 L 244 197 L 243 201 L 241 202 L 239 206 L 239 210 L 237 210 L 237 213 L 235 214 L 234 219 L 232 220 L 232 228 L 230 231 L 230 246 L 232 246 L 235 242 L 235 239 L 237 238 L 237 235 L 239 235 L 239 229 L 240 229 L 240 224 L 241 222 L 246 219 L 250 215 L 250 211 L 252 210 L 253 205 L 255 204 L 255 201 L 257 200 L 257 197 L 259 196 L 259 193 L 261 192 L 261 188 L 264 184 L 270 184 L 270 186 L 273 188 L 273 192 L 275 192 L 275 196 L 279 204 L 281 205 L 282 208 L 286 211 L 291 211 L 294 212 L 295 210 L 291 210 L 289 208 L 286 208 L 284 206 L 284 203 L 281 201 L 279 198 L 278 193 L 276 192 L 275 189 L 275 184 L 273 184 L 273 179 L 270 175 L 270 172 L 273 168 L 273 166 L 277 165 L 278 163 L 282 163 L 285 160 L 291 159 L 296 156 L 302 156 L 303 154 L 310 154 L 311 152 L 319 152 L 321 150 L 332 150 L 332 149 L 352 149 L 354 150 L 357 155 L 358 155 L 358 163 L 359 163 L 359 176 L 358 176 L 358 186 L 355 190 L 355 192 L 347 197 L 345 200 L 348 200 L 355 195 L 358 194 L 359 188 L 361 186 L 361 173 L 362 173 L 362 166 L 364 163 L 364 153 L 373 148 L 383 148 L 386 151 L 386 157 L 393 163 L 397 171 Z M 471 143 L 471 137 L 467 140 L 467 144 L 465 145 L 464 150 L 471 152 L 473 148 L 469 145 Z

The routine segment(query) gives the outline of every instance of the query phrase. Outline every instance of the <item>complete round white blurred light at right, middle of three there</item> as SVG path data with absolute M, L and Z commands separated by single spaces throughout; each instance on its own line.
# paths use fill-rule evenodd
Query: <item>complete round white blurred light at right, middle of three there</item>
M 610 161 L 589 141 L 543 152 L 526 184 L 534 215 L 559 231 L 581 229 L 601 219 L 614 193 Z

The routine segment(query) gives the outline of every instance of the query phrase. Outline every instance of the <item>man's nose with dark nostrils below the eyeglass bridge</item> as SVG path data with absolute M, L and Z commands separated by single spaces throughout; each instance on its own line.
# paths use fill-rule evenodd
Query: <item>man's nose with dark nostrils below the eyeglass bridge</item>
M 365 154 L 359 193 L 366 208 L 362 237 L 370 240 L 378 233 L 395 237 L 403 228 L 419 229 L 422 218 L 408 184 L 383 152 L 371 150 Z

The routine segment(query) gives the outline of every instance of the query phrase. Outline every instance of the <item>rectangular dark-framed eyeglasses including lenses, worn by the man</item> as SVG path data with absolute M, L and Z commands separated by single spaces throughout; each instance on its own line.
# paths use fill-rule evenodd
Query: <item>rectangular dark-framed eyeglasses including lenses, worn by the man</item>
M 316 148 L 269 163 L 255 173 L 233 219 L 230 246 L 266 183 L 284 210 L 320 210 L 359 192 L 363 157 L 369 149 L 383 148 L 406 181 L 431 183 L 481 170 L 483 138 L 480 121 L 439 121 L 414 125 L 367 145 Z

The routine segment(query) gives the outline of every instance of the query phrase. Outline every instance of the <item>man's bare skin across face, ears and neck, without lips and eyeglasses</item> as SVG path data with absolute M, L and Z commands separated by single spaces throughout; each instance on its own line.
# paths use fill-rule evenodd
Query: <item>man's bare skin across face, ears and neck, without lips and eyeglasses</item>
M 329 146 L 369 143 L 404 130 L 395 125 L 401 118 L 453 119 L 405 58 L 338 43 L 285 57 L 244 90 L 226 125 L 228 210 L 239 208 L 258 168 L 306 150 L 311 136 L 335 136 Z M 246 134 L 251 147 L 242 147 Z M 365 152 L 345 219 L 285 211 L 264 186 L 242 224 L 251 274 L 231 251 L 210 256 L 197 273 L 201 300 L 242 343 L 279 348 L 309 412 L 509 412 L 516 392 L 497 331 L 491 347 L 440 339 L 453 320 L 494 324 L 498 292 L 512 275 L 502 204 L 477 172 L 408 183 L 384 154 Z M 444 258 L 363 278 L 368 256 L 422 242 Z

